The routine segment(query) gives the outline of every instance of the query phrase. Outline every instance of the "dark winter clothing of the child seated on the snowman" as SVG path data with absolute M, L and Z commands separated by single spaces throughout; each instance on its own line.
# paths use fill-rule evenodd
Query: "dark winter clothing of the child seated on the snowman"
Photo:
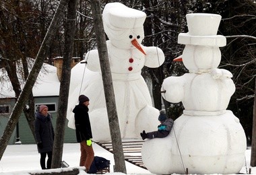
M 147 138 L 154 139 L 154 138 L 166 137 L 170 133 L 172 126 L 173 126 L 172 118 L 167 118 L 160 125 L 158 125 L 158 131 L 147 133 Z

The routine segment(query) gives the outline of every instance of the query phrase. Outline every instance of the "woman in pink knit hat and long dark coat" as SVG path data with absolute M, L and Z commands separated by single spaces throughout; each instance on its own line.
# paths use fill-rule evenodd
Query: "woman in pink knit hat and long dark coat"
M 36 112 L 36 119 L 34 120 L 34 133 L 36 136 L 38 153 L 41 155 L 41 168 L 42 170 L 51 169 L 53 140 L 55 133 L 51 121 L 51 114 L 48 113 L 48 107 L 45 105 L 40 105 L 39 111 Z M 48 160 L 45 166 L 46 155 L 48 156 Z

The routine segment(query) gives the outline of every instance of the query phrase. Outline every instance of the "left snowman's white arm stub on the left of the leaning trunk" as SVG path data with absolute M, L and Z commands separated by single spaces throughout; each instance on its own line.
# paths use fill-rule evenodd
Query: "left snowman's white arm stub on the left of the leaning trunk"
M 90 71 L 100 72 L 100 59 L 98 57 L 98 50 L 90 50 L 86 53 L 84 59 L 87 61 L 87 68 Z

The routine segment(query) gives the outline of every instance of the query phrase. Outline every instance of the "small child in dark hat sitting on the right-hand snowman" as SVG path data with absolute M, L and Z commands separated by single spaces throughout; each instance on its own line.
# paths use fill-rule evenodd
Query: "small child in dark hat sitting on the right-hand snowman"
M 158 116 L 158 120 L 160 121 L 160 125 L 158 125 L 158 131 L 153 131 L 150 133 L 146 133 L 143 131 L 140 133 L 141 138 L 144 139 L 154 139 L 154 138 L 163 138 L 166 137 L 173 126 L 172 118 L 167 118 L 165 114 L 165 110 L 160 110 L 160 115 Z

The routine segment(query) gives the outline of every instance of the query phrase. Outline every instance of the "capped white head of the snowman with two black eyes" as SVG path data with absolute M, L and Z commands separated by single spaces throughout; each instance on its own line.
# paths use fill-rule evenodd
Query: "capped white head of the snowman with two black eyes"
M 107 3 L 102 17 L 104 31 L 114 46 L 130 49 L 135 47 L 132 41 L 141 44 L 146 13 L 126 7 L 122 3 Z

